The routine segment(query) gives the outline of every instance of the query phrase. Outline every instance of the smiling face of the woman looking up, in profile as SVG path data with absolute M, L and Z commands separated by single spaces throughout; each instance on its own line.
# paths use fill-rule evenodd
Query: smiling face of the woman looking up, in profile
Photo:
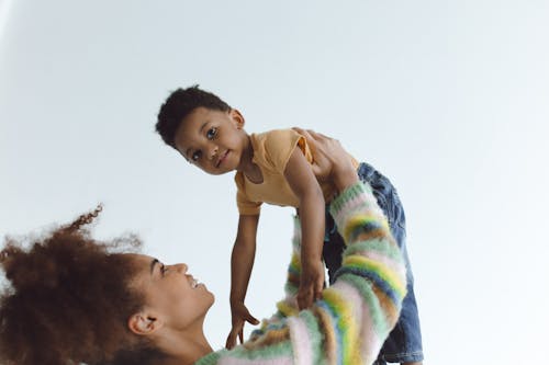
M 202 326 L 214 296 L 187 272 L 186 264 L 165 265 L 143 254 L 132 254 L 132 260 L 138 272 L 132 286 L 144 295 L 147 310 L 176 330 Z

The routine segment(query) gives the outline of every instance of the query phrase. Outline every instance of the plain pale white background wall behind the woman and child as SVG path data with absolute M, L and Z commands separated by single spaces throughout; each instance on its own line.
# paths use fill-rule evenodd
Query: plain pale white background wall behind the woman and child
M 384 172 L 405 205 L 426 364 L 546 361 L 549 2 L 1 1 L 0 235 L 104 203 L 96 235 L 133 231 L 187 262 L 229 330 L 232 175 L 154 133 L 200 83 L 249 133 L 302 126 Z M 265 207 L 248 305 L 274 310 L 292 209 Z

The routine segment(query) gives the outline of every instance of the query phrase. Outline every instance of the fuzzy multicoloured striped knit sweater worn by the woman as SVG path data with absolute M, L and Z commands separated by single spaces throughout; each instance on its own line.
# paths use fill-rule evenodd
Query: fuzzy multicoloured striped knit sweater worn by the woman
M 298 310 L 301 228 L 295 219 L 285 298 L 240 346 L 197 365 L 371 364 L 399 318 L 405 267 L 370 186 L 357 183 L 337 196 L 330 213 L 347 242 L 337 280 L 311 309 Z

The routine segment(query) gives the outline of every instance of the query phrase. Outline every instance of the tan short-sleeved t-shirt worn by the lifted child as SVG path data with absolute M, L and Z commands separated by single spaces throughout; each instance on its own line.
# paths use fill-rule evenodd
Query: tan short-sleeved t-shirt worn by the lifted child
M 253 162 L 259 166 L 264 182 L 253 183 L 242 172 L 235 175 L 236 204 L 242 215 L 259 214 L 262 203 L 280 206 L 299 207 L 298 196 L 293 193 L 284 176 L 285 166 L 295 147 L 299 147 L 306 160 L 313 163 L 313 155 L 305 137 L 293 129 L 274 129 L 260 134 L 251 134 Z M 358 162 L 352 159 L 355 167 Z M 334 195 L 334 186 L 321 184 L 326 202 Z

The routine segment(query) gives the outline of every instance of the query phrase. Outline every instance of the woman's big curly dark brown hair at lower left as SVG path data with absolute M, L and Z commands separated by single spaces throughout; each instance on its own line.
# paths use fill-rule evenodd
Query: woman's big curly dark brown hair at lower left
M 121 364 L 115 358 L 122 351 L 141 346 L 126 327 L 143 304 L 128 289 L 136 267 L 127 254 L 115 253 L 135 252 L 141 243 L 136 238 L 93 240 L 82 226 L 100 210 L 29 248 L 5 239 L 0 252 L 9 283 L 0 298 L 1 364 Z

